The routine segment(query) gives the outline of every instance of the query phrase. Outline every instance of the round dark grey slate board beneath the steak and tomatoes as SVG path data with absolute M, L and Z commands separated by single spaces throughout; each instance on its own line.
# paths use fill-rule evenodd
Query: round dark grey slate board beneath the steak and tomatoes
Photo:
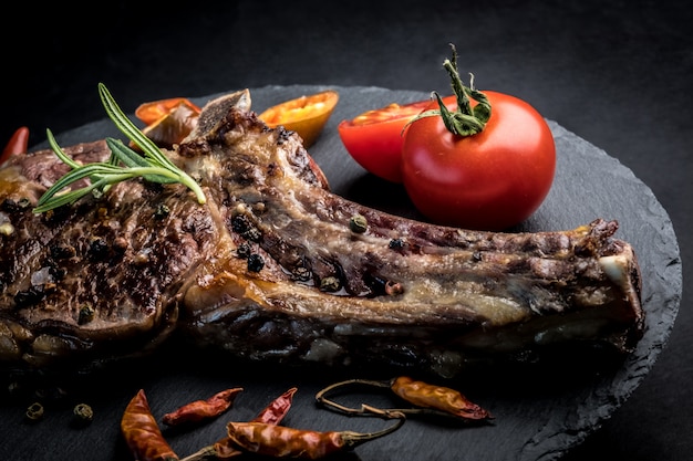
M 401 186 L 366 174 L 349 157 L 337 125 L 366 109 L 392 102 L 418 101 L 427 98 L 428 94 L 380 87 L 266 86 L 250 90 L 252 108 L 260 113 L 277 103 L 327 88 L 337 90 L 340 102 L 310 153 L 325 172 L 332 190 L 373 208 L 420 218 Z M 194 101 L 204 104 L 215 96 Z M 621 366 L 585 373 L 577 378 L 551 375 L 464 377 L 461 383 L 468 381 L 469 386 L 461 390 L 492 411 L 493 425 L 467 427 L 412 419 L 395 434 L 338 459 L 556 460 L 608 419 L 650 371 L 673 327 L 682 294 L 681 259 L 672 223 L 650 188 L 627 167 L 558 123 L 548 122 L 557 144 L 556 180 L 540 209 L 514 230 L 565 230 L 596 218 L 618 220 L 617 235 L 633 245 L 642 270 L 647 327 L 637 350 Z M 111 122 L 104 119 L 61 134 L 58 140 L 68 146 L 104 136 L 122 137 Z M 377 419 L 346 418 L 317 408 L 314 394 L 345 377 L 337 369 L 246 366 L 234 360 L 221 362 L 218 357 L 207 360 L 196 358 L 193 350 L 174 347 L 142 362 L 95 370 L 90 376 L 70 377 L 62 383 L 69 389 L 65 395 L 46 388 L 44 392 L 52 392 L 53 398 L 44 420 L 35 425 L 23 419 L 30 397 L 3 399 L 0 428 L 6 436 L 0 444 L 0 458 L 131 459 L 118 425 L 127 401 L 141 388 L 157 418 L 182 404 L 206 398 L 224 388 L 244 388 L 227 416 L 189 431 L 164 431 L 180 457 L 224 437 L 226 421 L 251 419 L 292 386 L 299 391 L 283 421 L 287 426 L 316 430 L 381 429 L 383 422 Z M 70 413 L 79 401 L 87 401 L 94 408 L 95 418 L 89 426 L 76 426 Z M 7 434 L 13 436 L 8 438 Z

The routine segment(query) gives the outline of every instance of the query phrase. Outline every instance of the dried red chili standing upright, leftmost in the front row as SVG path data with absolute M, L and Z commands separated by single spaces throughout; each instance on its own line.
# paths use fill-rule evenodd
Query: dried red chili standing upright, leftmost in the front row
M 132 398 L 121 419 L 121 432 L 137 461 L 178 461 L 152 416 L 143 389 Z

